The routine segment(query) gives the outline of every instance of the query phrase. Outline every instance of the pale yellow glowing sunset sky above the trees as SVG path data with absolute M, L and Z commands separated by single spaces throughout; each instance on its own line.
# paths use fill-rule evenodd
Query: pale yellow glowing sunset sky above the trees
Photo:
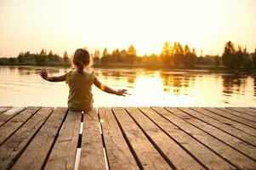
M 0 0 L 0 57 L 42 48 L 128 48 L 159 54 L 179 41 L 221 54 L 227 41 L 256 48 L 256 0 Z

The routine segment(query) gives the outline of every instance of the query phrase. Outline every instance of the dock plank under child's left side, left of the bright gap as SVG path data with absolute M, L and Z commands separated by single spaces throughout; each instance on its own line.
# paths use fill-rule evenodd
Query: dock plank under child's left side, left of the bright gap
M 81 112 L 68 111 L 44 169 L 74 169 Z

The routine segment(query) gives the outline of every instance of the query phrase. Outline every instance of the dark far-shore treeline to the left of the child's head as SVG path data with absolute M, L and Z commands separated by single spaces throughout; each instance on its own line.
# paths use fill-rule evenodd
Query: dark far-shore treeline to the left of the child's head
M 70 65 L 68 54 L 65 51 L 63 57 L 53 54 L 52 51 L 42 49 L 40 54 L 31 54 L 29 51 L 20 53 L 16 58 L 1 58 L 0 65 Z

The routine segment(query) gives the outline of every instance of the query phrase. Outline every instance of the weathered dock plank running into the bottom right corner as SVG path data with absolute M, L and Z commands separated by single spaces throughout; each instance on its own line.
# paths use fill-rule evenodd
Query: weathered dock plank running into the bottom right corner
M 248 158 L 247 156 L 242 155 L 240 152 L 230 148 L 230 146 L 220 142 L 218 139 L 213 138 L 213 136 L 208 133 L 203 132 L 201 129 L 192 126 L 188 122 L 180 119 L 178 116 L 175 116 L 174 113 L 179 112 L 177 108 L 167 108 L 167 110 L 160 107 L 153 107 L 153 109 L 168 119 L 168 121 L 173 122 L 176 126 L 183 129 L 186 133 L 189 133 L 191 137 L 197 139 L 218 153 L 219 156 L 224 158 L 226 161 L 229 161 L 233 166 L 240 169 L 254 168 L 256 162 Z

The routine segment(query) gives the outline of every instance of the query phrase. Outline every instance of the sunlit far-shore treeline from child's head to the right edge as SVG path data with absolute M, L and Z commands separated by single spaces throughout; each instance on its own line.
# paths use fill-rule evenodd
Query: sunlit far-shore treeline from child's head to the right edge
M 128 49 L 118 48 L 108 52 L 107 48 L 100 54 L 100 50 L 94 52 L 94 65 L 145 65 L 151 68 L 194 68 L 198 65 L 212 67 L 226 67 L 229 69 L 256 69 L 256 49 L 253 54 L 247 52 L 247 48 L 235 45 L 232 42 L 225 43 L 225 49 L 221 56 L 196 55 L 196 49 L 188 45 L 183 46 L 180 42 L 164 42 L 161 54 L 138 56 L 136 49 L 130 45 Z

